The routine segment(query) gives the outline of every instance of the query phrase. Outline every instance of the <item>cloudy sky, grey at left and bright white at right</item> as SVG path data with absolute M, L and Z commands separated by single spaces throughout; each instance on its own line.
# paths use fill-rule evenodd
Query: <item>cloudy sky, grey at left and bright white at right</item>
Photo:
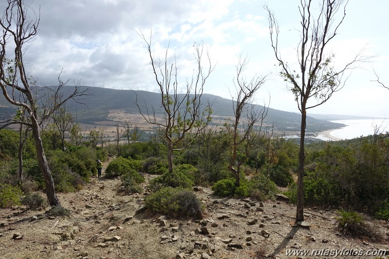
M 40 13 L 39 32 L 29 42 L 24 62 L 40 85 L 62 79 L 90 87 L 158 92 L 142 32 L 151 36 L 155 60 L 175 62 L 179 89 L 196 68 L 195 43 L 204 43 L 215 65 L 204 92 L 232 99 L 239 57 L 247 57 L 247 79 L 267 76 L 255 103 L 298 112 L 294 95 L 279 76 L 271 48 L 267 13 L 274 11 L 280 25 L 279 49 L 289 64 L 297 64 L 300 0 L 26 0 Z M 0 3 L 0 12 L 5 1 Z M 32 11 L 30 10 L 30 11 Z M 349 0 L 346 18 L 328 51 L 334 66 L 342 67 L 364 50 L 369 62 L 345 75 L 344 88 L 308 113 L 389 117 L 389 90 L 373 80 L 373 69 L 389 86 L 388 0 Z M 34 13 L 29 13 L 35 18 Z M 180 90 L 184 91 L 184 90 Z

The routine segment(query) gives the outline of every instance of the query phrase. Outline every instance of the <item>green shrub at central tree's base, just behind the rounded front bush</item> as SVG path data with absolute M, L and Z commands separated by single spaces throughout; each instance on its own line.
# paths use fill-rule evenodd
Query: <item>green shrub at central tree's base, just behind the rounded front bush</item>
M 163 187 L 183 187 L 190 188 L 193 186 L 193 181 L 180 170 L 173 170 L 173 172 L 164 173 L 152 179 L 149 182 L 149 187 L 152 191 L 157 191 Z

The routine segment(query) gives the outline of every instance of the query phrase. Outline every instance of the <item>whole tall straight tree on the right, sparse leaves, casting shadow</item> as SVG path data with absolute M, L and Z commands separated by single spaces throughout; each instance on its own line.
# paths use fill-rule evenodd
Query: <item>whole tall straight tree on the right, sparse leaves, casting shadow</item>
M 333 93 L 341 90 L 345 85 L 348 76 L 344 78 L 344 75 L 355 68 L 356 63 L 368 59 L 360 52 L 341 68 L 335 68 L 333 65 L 334 54 L 331 53 L 329 42 L 336 36 L 345 19 L 347 2 L 347 0 L 300 1 L 298 10 L 301 27 L 300 30 L 296 30 L 300 35 L 296 48 L 297 63 L 288 62 L 281 56 L 279 24 L 274 13 L 265 6 L 268 12 L 271 45 L 278 61 L 279 74 L 290 86 L 289 90 L 294 94 L 298 110 L 301 112 L 296 222 L 304 221 L 303 177 L 307 110 L 327 102 Z

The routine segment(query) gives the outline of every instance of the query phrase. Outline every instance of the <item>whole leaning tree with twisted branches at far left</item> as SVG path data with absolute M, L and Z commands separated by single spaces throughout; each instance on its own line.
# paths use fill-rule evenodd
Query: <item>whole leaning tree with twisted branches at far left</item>
M 37 36 L 40 21 L 40 16 L 36 16 L 33 10 L 30 11 L 30 5 L 25 4 L 23 0 L 8 0 L 0 18 L 2 33 L 0 35 L 0 88 L 10 104 L 18 107 L 19 112 L 25 111 L 27 114 L 22 118 L 17 113 L 17 116 L 3 121 L 2 126 L 23 124 L 31 129 L 38 163 L 45 181 L 47 198 L 50 205 L 57 206 L 60 205 L 60 202 L 56 196 L 53 177 L 44 152 L 40 127 L 67 100 L 82 95 L 83 92 L 80 91 L 79 85 L 75 85 L 74 92 L 70 96 L 64 97 L 61 95 L 64 82 L 60 81 L 59 87 L 52 89 L 56 98 L 50 103 L 49 109 L 43 107 L 43 112 L 38 112 L 39 103 L 33 92 L 36 81 L 28 74 L 29 69 L 26 68 L 23 61 L 27 44 Z M 29 13 L 34 14 L 34 17 L 29 17 Z

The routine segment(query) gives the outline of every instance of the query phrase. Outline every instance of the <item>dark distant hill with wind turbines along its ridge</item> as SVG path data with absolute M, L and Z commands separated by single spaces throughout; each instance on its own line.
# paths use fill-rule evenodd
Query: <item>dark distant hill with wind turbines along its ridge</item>
M 131 119 L 131 114 L 139 114 L 138 108 L 135 105 L 136 97 L 141 106 L 146 105 L 151 108 L 154 107 L 157 116 L 163 116 L 163 109 L 161 107 L 161 96 L 159 93 L 146 91 L 132 91 L 132 90 L 116 90 L 99 87 L 82 86 L 82 90 L 88 88 L 89 95 L 78 99 L 79 104 L 70 101 L 67 107 L 77 115 L 77 121 L 83 124 L 93 125 L 98 122 L 113 122 L 109 118 L 112 111 L 122 111 L 128 114 Z M 64 94 L 69 94 L 74 88 L 67 86 L 64 88 Z M 44 91 L 39 91 L 40 95 Z M 203 94 L 202 103 L 207 101 L 213 103 L 212 110 L 214 111 L 214 121 L 223 121 L 225 117 L 233 116 L 232 100 L 222 98 L 212 94 Z M 256 105 L 261 109 L 262 106 Z M 6 112 L 15 111 L 15 108 L 0 96 L 0 114 L 4 116 Z M 139 117 L 139 116 L 138 116 Z M 299 131 L 300 130 L 301 115 L 295 112 L 279 111 L 269 108 L 268 114 L 264 123 L 266 125 L 274 124 L 276 130 L 279 131 Z M 312 116 L 307 116 L 307 132 L 318 132 L 328 129 L 337 129 L 345 125 L 339 123 L 332 123 L 326 120 L 317 119 Z

